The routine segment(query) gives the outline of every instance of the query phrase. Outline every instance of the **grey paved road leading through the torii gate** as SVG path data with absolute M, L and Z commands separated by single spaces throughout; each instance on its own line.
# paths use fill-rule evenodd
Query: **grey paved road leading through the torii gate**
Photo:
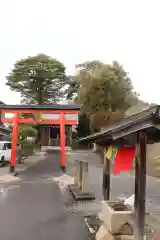
M 51 177 L 60 175 L 59 154 L 28 169 L 20 182 L 0 192 L 0 239 L 89 240 L 84 219 L 67 207 Z M 13 187 L 13 189 L 11 189 Z

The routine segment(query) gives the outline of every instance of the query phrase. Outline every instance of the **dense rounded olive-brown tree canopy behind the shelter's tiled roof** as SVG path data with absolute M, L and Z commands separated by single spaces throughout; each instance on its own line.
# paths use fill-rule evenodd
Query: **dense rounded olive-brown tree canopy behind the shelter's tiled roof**
M 117 62 L 92 61 L 76 67 L 79 71 L 70 78 L 68 97 L 76 94 L 75 101 L 83 105 L 92 131 L 122 118 L 137 100 L 128 73 Z

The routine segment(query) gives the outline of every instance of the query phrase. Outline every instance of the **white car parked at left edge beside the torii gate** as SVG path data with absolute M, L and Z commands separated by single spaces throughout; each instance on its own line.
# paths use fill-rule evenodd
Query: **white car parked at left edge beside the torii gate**
M 12 143 L 7 141 L 0 141 L 0 163 L 4 165 L 10 162 Z

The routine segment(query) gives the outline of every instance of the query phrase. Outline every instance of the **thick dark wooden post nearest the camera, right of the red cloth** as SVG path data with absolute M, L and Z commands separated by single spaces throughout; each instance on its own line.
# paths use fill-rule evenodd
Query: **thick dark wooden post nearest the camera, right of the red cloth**
M 144 239 L 145 198 L 146 198 L 146 151 L 145 130 L 137 133 L 137 156 L 135 172 L 135 239 Z

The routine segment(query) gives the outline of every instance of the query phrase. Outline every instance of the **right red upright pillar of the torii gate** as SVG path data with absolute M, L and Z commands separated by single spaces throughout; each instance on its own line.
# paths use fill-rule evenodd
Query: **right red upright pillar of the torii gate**
M 60 114 L 60 149 L 61 149 L 61 169 L 63 172 L 66 170 L 66 156 L 65 156 L 65 125 L 64 125 L 64 113 Z

